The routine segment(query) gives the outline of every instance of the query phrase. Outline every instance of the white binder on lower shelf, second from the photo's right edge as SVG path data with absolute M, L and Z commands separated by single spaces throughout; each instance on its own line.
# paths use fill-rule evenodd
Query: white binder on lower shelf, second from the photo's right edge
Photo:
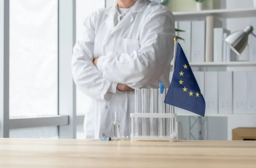
M 247 71 L 233 72 L 233 113 L 247 113 Z

